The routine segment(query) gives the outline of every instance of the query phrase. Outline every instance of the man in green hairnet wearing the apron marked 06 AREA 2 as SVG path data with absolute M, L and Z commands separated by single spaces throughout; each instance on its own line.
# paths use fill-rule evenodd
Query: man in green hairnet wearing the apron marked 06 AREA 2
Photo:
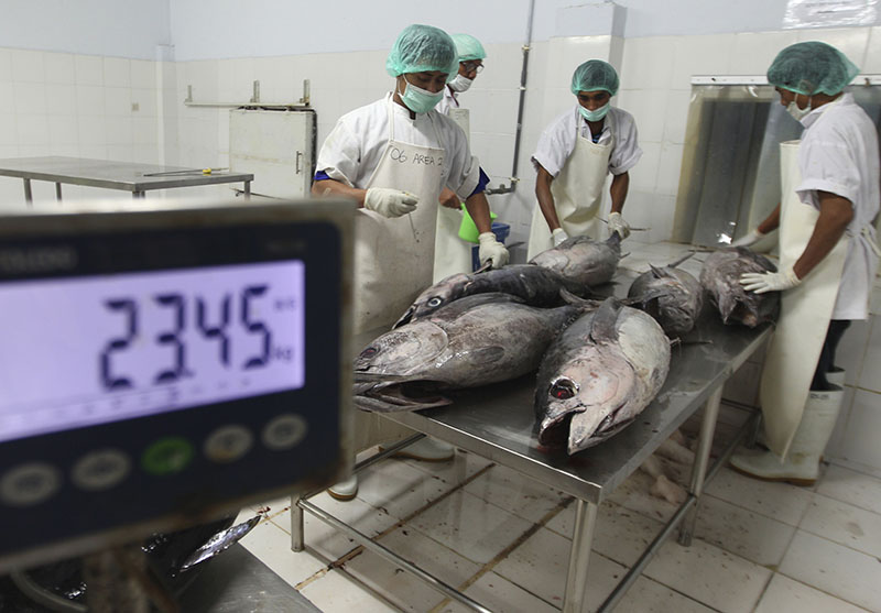
M 444 186 L 465 201 L 480 231 L 480 261 L 492 266 L 508 262 L 508 250 L 490 231 L 483 195 L 487 180 L 481 179 L 486 175 L 461 129 L 434 110 L 457 65 L 456 48 L 446 32 L 429 25 L 405 28 L 385 63 L 395 78 L 394 91 L 342 116 L 318 153 L 313 194 L 352 198 L 359 206 L 356 333 L 390 326 L 432 284 L 438 196 Z M 387 434 L 400 436 L 388 419 L 356 414 L 356 449 Z M 416 445 L 426 448 L 426 459 L 453 455 L 448 446 L 438 452 L 432 439 Z M 356 491 L 357 480 L 351 479 L 330 492 L 349 500 Z

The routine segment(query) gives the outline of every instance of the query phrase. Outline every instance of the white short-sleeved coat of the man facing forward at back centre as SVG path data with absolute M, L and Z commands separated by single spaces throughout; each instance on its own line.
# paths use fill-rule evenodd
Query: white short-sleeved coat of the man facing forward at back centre
M 633 116 L 616 107 L 611 107 L 608 114 L 611 116 L 611 121 L 603 121 L 602 133 L 597 144 L 612 141 L 609 172 L 620 175 L 635 166 L 642 157 L 642 150 L 639 145 L 637 122 L 633 120 Z M 551 176 L 556 177 L 575 151 L 578 125 L 580 125 L 581 136 L 590 139 L 590 127 L 578 112 L 577 106 L 557 117 L 542 132 L 535 153 L 532 154 L 533 164 L 541 164 Z

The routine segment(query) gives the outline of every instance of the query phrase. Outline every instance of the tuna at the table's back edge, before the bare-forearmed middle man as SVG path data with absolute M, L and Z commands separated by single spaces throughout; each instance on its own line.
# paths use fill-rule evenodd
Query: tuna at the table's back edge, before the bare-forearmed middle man
M 563 278 L 594 287 L 611 281 L 621 260 L 621 238 L 617 232 L 605 242 L 590 237 L 572 237 L 542 251 L 530 263 L 558 273 Z

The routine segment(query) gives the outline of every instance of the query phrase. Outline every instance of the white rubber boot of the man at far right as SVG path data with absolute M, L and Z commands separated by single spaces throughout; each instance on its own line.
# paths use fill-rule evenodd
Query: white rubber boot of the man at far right
M 819 460 L 841 411 L 842 390 L 811 392 L 786 460 L 772 451 L 741 449 L 731 456 L 731 467 L 748 477 L 813 485 L 819 477 Z

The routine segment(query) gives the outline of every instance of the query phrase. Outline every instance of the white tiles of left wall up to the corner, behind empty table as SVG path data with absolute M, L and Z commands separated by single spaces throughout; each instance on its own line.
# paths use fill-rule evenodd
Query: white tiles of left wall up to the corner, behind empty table
M 155 62 L 0 48 L 0 157 L 157 163 L 156 75 Z M 33 182 L 32 188 L 36 207 L 56 206 L 53 184 Z M 63 193 L 65 199 L 119 196 L 75 186 Z M 0 208 L 24 206 L 22 182 L 0 177 Z

